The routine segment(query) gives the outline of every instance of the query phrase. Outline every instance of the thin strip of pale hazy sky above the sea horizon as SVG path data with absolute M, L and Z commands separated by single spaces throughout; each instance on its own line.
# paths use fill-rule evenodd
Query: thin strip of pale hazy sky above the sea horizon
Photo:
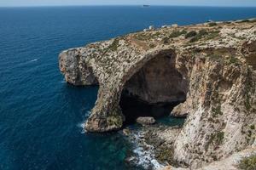
M 59 6 L 59 5 L 195 5 L 255 7 L 256 0 L 0 0 L 0 6 Z

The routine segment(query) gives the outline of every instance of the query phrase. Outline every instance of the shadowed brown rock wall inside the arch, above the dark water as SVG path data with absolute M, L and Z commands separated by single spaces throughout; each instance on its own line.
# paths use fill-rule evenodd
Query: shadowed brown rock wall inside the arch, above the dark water
M 148 104 L 184 101 L 188 82 L 175 67 L 175 55 L 170 51 L 150 59 L 125 83 L 125 90 Z

